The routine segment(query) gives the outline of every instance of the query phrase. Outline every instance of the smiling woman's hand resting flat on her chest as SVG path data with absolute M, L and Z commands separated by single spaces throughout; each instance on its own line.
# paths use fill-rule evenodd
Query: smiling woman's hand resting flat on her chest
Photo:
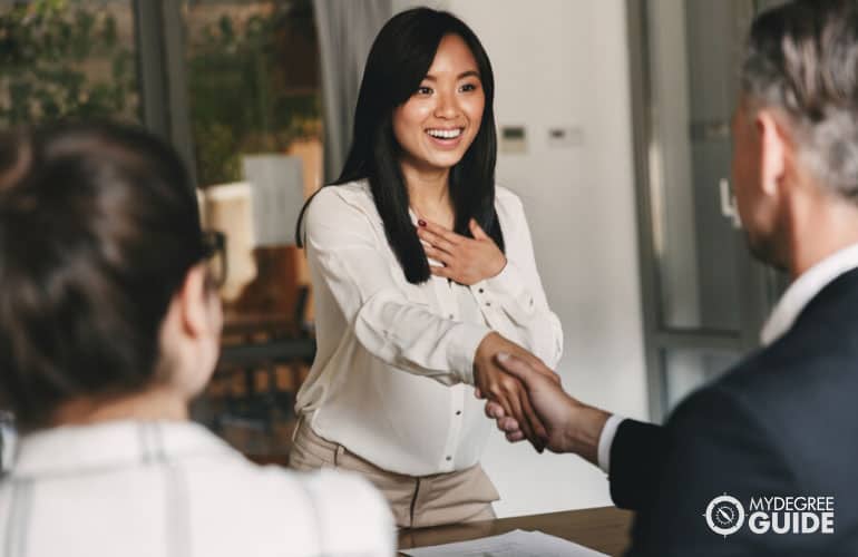
M 442 267 L 429 266 L 433 275 L 470 286 L 504 270 L 507 258 L 495 241 L 475 219 L 470 219 L 469 226 L 474 238 L 461 236 L 428 221 L 419 221 L 417 235 L 428 244 L 423 245 L 426 255 L 443 264 Z

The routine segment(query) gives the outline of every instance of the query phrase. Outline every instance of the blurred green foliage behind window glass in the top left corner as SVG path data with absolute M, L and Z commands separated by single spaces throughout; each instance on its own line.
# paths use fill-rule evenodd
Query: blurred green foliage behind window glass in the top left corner
M 0 125 L 139 120 L 135 60 L 107 10 L 79 0 L 0 9 Z M 3 95 L 4 94 L 4 95 Z

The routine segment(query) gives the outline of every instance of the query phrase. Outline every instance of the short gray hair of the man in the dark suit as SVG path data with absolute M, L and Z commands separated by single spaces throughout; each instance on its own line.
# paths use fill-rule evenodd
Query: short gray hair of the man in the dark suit
M 858 202 L 858 0 L 796 0 L 758 17 L 742 94 L 783 111 L 799 157 L 823 186 Z

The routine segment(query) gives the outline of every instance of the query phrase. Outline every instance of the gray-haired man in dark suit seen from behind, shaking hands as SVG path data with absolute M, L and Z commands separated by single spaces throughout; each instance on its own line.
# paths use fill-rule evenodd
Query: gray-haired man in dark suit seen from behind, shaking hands
M 792 278 L 763 348 L 664 427 L 499 360 L 548 448 L 601 466 L 616 505 L 637 511 L 631 555 L 858 555 L 858 0 L 796 0 L 754 21 L 732 127 L 750 248 Z

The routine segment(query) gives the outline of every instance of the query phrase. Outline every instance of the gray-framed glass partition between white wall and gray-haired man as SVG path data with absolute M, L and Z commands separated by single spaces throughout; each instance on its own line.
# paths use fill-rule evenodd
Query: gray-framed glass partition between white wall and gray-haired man
M 759 343 L 784 282 L 753 261 L 730 184 L 730 120 L 755 13 L 777 0 L 628 0 L 650 409 Z M 721 369 L 719 369 L 721 368 Z

